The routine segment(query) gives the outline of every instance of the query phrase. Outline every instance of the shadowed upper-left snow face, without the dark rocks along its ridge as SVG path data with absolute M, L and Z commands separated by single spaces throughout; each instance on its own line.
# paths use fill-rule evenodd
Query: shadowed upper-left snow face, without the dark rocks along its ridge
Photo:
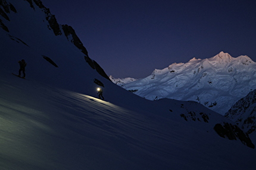
M 96 69 L 92 70 L 85 60 L 86 54 L 72 43 L 74 39 L 71 36 L 67 39 L 61 25 L 61 35 L 55 36 L 46 21 L 45 9 L 39 8 L 35 2 L 32 1 L 35 9 L 27 1 L 10 2 L 17 12 L 7 13 L 10 21 L 2 18 L 9 32 L 0 28 L 0 62 L 4 63 L 1 68 L 17 74 L 17 62 L 24 59 L 27 62 L 27 79 L 49 82 L 77 91 L 88 89 L 95 94 L 94 80 L 101 81 L 105 78 Z M 49 57 L 58 68 L 45 60 L 44 56 Z M 90 75 L 91 72 L 95 72 L 95 75 Z

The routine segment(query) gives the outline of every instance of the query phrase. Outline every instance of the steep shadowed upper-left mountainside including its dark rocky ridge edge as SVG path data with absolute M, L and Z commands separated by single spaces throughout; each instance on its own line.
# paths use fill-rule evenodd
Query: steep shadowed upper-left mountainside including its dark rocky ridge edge
M 2 68 L 17 73 L 17 62 L 24 59 L 28 78 L 44 79 L 51 83 L 63 81 L 63 86 L 70 88 L 74 79 L 80 82 L 81 88 L 85 86 L 83 80 L 85 76 L 92 76 L 86 74 L 91 69 L 109 79 L 104 70 L 87 56 L 74 30 L 67 25 L 58 25 L 49 9 L 42 4 L 38 6 L 41 1 L 3 2 L 11 3 L 10 7 L 15 10 L 4 10 L 9 6 L 0 5 L 0 9 L 3 8 L 0 20 L 8 28 L 8 31 L 0 28 L 0 45 L 4 49 L 0 58 L 0 62 L 4 63 Z M 8 20 L 2 17 L 3 14 L 8 16 Z M 57 30 L 60 34 L 56 34 Z M 45 59 L 51 59 L 58 68 Z M 94 78 L 101 81 L 101 76 L 93 75 L 92 81 Z

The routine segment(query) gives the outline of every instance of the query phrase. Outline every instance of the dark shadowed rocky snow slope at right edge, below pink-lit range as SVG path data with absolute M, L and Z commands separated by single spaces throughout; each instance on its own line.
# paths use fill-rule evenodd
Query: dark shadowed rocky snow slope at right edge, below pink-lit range
M 236 102 L 225 117 L 233 120 L 245 133 L 256 137 L 256 89 Z

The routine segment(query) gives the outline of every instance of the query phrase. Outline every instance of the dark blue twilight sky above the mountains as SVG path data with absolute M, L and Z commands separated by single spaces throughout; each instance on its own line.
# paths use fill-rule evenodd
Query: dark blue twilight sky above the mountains
M 154 69 L 221 51 L 256 62 L 254 0 L 42 2 L 115 78 L 145 78 Z

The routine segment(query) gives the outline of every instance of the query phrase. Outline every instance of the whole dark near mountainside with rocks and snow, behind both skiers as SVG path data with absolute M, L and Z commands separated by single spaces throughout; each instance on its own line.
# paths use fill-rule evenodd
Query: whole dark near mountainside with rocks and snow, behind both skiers
M 41 7 L 0 0 L 1 169 L 255 169 L 255 141 L 235 123 L 197 102 L 145 100 L 113 84 L 74 30 Z M 21 59 L 26 79 L 11 74 Z

